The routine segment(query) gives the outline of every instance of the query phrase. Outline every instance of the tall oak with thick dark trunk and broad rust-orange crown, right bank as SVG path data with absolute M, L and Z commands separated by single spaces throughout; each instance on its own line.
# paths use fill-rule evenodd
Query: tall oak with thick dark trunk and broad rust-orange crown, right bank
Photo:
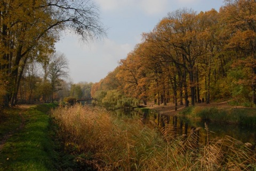
M 203 54 L 202 30 L 198 27 L 198 18 L 193 10 L 186 8 L 169 13 L 168 19 L 173 22 L 171 25 L 173 34 L 172 45 L 178 48 L 182 54 L 184 67 L 189 74 L 189 87 L 191 93 L 191 105 L 195 105 L 195 64 L 196 59 Z M 185 63 L 186 62 L 186 63 Z M 186 105 L 188 102 L 186 102 Z

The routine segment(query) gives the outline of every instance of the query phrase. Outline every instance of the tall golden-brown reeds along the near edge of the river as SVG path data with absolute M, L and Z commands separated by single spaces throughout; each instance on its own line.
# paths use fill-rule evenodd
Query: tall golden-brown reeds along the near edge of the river
M 256 168 L 255 151 L 228 136 L 198 142 L 199 130 L 177 136 L 175 127 L 155 129 L 140 119 L 124 122 L 106 110 L 75 105 L 52 113 L 59 125 L 58 136 L 77 170 L 251 170 Z

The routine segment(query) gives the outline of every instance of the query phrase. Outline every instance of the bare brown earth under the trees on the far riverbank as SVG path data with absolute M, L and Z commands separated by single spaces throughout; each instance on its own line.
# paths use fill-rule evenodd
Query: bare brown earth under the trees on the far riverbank
M 227 101 L 224 102 L 211 102 L 210 104 L 206 104 L 206 102 L 202 103 L 196 103 L 195 106 L 200 106 L 200 107 L 217 107 L 217 108 L 234 108 L 234 106 L 228 105 Z M 145 107 L 149 109 L 154 109 L 157 110 L 158 112 L 162 112 L 165 115 L 175 115 L 178 114 L 184 107 L 185 105 L 178 105 L 178 110 L 175 111 L 175 105 L 173 103 L 169 103 L 166 106 L 163 104 L 158 106 L 155 105 L 154 102 L 149 102 Z M 236 106 L 237 107 L 242 107 L 242 106 Z

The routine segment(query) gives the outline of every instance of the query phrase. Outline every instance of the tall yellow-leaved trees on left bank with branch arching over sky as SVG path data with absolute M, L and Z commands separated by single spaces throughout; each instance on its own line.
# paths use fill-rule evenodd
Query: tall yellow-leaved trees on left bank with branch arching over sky
M 18 94 L 22 89 L 20 84 L 31 78 L 27 78 L 25 74 L 30 63 L 36 62 L 43 66 L 51 64 L 51 55 L 48 54 L 55 51 L 54 44 L 63 31 L 76 33 L 83 41 L 104 36 L 105 28 L 100 22 L 97 6 L 91 0 L 0 1 L 1 106 L 2 103 L 5 106 L 17 104 Z M 55 67 L 55 71 L 57 70 L 58 66 Z M 53 80 L 58 77 L 52 76 Z M 33 81 L 30 80 L 29 84 L 31 82 Z M 52 84 L 56 86 L 58 82 Z M 55 90 L 51 91 L 53 99 Z M 42 96 L 43 94 L 45 93 L 41 93 Z M 25 99 L 24 96 L 20 98 Z

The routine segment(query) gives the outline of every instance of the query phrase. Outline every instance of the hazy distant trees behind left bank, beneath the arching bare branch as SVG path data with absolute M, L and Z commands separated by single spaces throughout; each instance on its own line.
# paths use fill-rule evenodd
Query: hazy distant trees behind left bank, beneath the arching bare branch
M 66 81 L 68 62 L 64 54 L 53 53 L 49 59 L 44 64 L 27 63 L 19 85 L 18 104 L 91 98 L 92 82 Z

